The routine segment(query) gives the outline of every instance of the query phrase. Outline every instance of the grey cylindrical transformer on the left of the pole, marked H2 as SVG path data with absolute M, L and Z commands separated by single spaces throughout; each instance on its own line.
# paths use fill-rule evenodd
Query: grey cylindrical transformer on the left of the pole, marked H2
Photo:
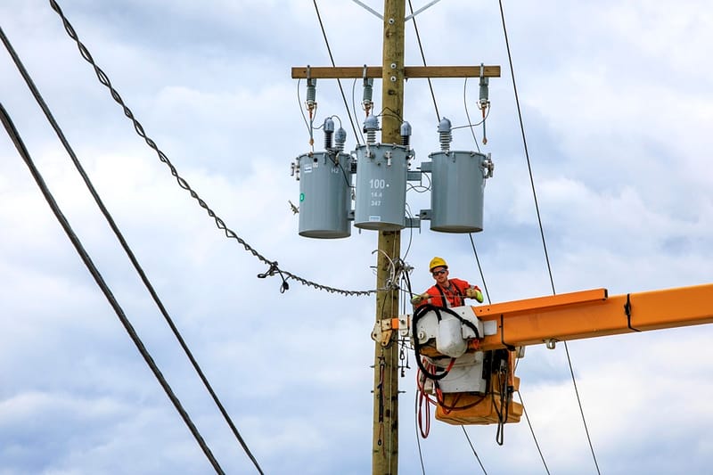
M 347 153 L 300 155 L 299 235 L 335 239 L 348 237 L 351 227 L 351 161 Z

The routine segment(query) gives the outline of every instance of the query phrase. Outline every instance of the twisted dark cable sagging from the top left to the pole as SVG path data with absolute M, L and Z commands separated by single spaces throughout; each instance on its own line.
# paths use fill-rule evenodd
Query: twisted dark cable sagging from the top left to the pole
M 266 264 L 266 266 L 270 266 L 270 269 L 280 270 L 279 267 L 277 266 L 277 261 L 271 261 L 271 260 L 267 259 L 265 256 L 260 254 L 258 252 L 258 250 L 255 250 L 252 246 L 250 246 L 250 244 L 248 244 L 248 242 L 245 242 L 237 233 L 235 233 L 232 229 L 227 227 L 225 225 L 225 221 L 223 221 L 222 218 L 218 217 L 217 214 L 215 213 L 215 211 L 213 211 L 213 209 L 209 208 L 208 203 L 206 203 L 206 201 L 203 201 L 201 199 L 201 197 L 198 195 L 198 193 L 193 190 L 191 185 L 188 184 L 188 182 L 184 179 L 184 177 L 180 176 L 178 174 L 176 167 L 171 163 L 170 160 L 168 160 L 168 156 L 164 152 L 161 152 L 161 150 L 156 145 L 156 143 L 152 140 L 152 138 L 150 138 L 148 135 L 146 135 L 141 123 L 137 119 L 135 119 L 134 113 L 127 107 L 127 105 L 123 101 L 123 99 L 121 99 L 119 92 L 116 89 L 114 89 L 113 86 L 111 86 L 111 81 L 110 81 L 109 77 L 106 75 L 106 73 L 104 73 L 104 71 L 99 66 L 97 66 L 96 62 L 94 61 L 94 58 L 92 58 L 91 53 L 89 53 L 89 50 L 86 48 L 85 45 L 82 44 L 81 41 L 79 41 L 76 31 L 74 30 L 74 28 L 72 28 L 70 21 L 67 20 L 67 17 L 64 16 L 64 13 L 61 11 L 60 5 L 57 4 L 56 0 L 50 0 L 50 5 L 52 6 L 53 10 L 55 12 L 57 12 L 57 14 L 60 15 L 62 23 L 64 24 L 64 29 L 67 31 L 67 34 L 70 36 L 70 38 L 72 40 L 74 40 L 77 43 L 79 53 L 81 54 L 82 58 L 84 58 L 85 61 L 87 61 L 89 64 L 91 64 L 92 67 L 94 68 L 94 72 L 96 73 L 96 77 L 99 79 L 99 82 L 102 83 L 102 86 L 106 86 L 110 90 L 111 97 L 114 99 L 115 102 L 117 102 L 121 106 L 121 108 L 124 111 L 124 115 L 126 115 L 127 118 L 132 121 L 132 123 L 134 125 L 134 129 L 136 131 L 136 134 L 139 135 L 140 137 L 142 137 L 144 142 L 150 148 L 152 148 L 152 150 L 154 152 L 157 153 L 157 155 L 159 156 L 159 160 L 168 166 L 168 169 L 170 170 L 171 175 L 176 177 L 176 182 L 178 183 L 178 185 L 181 188 L 183 188 L 185 191 L 189 192 L 191 194 L 191 198 L 193 198 L 193 200 L 197 201 L 199 206 L 201 206 L 202 209 L 206 210 L 206 212 L 208 213 L 208 216 L 212 217 L 213 220 L 215 221 L 217 228 L 225 233 L 225 237 L 227 237 L 228 239 L 234 239 L 236 242 L 241 244 L 245 250 L 250 252 L 250 254 L 252 254 L 255 258 L 258 258 L 258 260 L 260 260 L 261 262 Z M 341 295 L 348 295 L 348 296 L 366 296 L 366 295 L 371 295 L 371 294 L 379 291 L 378 289 L 369 290 L 369 291 L 346 291 L 346 290 L 322 285 L 320 283 L 308 281 L 307 279 L 300 277 L 297 274 L 292 274 L 291 272 L 288 272 L 285 270 L 280 270 L 279 274 L 283 276 L 283 279 L 284 279 L 284 276 L 287 276 L 287 278 L 292 279 L 293 281 L 297 281 L 297 282 L 301 283 L 302 285 L 305 285 L 307 287 L 313 287 L 316 290 L 326 291 L 329 293 L 339 293 Z M 275 275 L 275 272 L 270 272 L 266 275 Z M 284 289 L 284 283 L 285 283 L 285 281 L 283 280 L 283 286 L 281 287 L 281 289 Z

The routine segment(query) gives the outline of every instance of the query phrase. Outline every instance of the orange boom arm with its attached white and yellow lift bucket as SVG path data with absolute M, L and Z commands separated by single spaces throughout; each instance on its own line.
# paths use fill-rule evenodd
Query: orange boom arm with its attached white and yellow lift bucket
M 441 308 L 382 320 L 372 338 L 409 338 L 422 390 L 436 395 L 436 418 L 453 424 L 519 422 L 514 360 L 528 345 L 713 323 L 713 284 L 610 297 L 606 289 L 536 299 Z

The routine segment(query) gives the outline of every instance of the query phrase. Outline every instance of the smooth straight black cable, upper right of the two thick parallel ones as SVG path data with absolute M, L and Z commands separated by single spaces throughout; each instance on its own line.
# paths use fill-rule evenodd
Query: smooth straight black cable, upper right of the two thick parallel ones
M 193 364 L 193 369 L 195 370 L 196 373 L 198 373 L 198 376 L 199 376 L 199 378 L 201 378 L 203 385 L 208 390 L 210 397 L 213 398 L 213 402 L 216 404 L 218 410 L 220 411 L 220 414 L 223 415 L 225 422 L 228 424 L 230 429 L 233 431 L 235 438 L 237 438 L 238 442 L 242 446 L 242 449 L 250 457 L 250 460 L 255 465 L 255 467 L 258 469 L 258 472 L 262 473 L 262 469 L 260 469 L 258 461 L 252 455 L 252 453 L 250 452 L 250 448 L 248 448 L 247 444 L 242 439 L 240 432 L 235 427 L 235 424 L 234 424 L 233 420 L 231 419 L 230 415 L 227 414 L 225 407 L 220 402 L 220 399 L 217 397 L 216 392 L 211 387 L 211 385 L 208 381 L 208 378 L 206 378 L 205 374 L 201 370 L 201 366 L 198 364 L 198 362 L 193 357 L 193 353 L 188 348 L 188 345 L 186 345 L 185 340 L 184 340 L 183 336 L 181 335 L 181 332 L 178 331 L 178 328 L 176 327 L 176 324 L 173 322 L 173 319 L 171 318 L 170 315 L 168 315 L 168 310 L 163 305 L 163 302 L 161 302 L 161 299 L 159 298 L 159 295 L 156 293 L 155 289 L 153 288 L 151 281 L 149 281 L 148 276 L 143 272 L 143 267 L 141 266 L 141 264 L 139 264 L 138 259 L 136 259 L 134 252 L 129 247 L 126 239 L 124 238 L 123 233 L 121 233 L 121 231 L 119 230 L 119 226 L 114 221 L 114 218 L 111 217 L 111 213 L 109 212 L 109 209 L 107 209 L 106 206 L 104 206 L 102 198 L 99 196 L 99 193 L 96 192 L 96 189 L 94 188 L 94 184 L 92 184 L 91 179 L 86 174 L 86 170 L 82 166 L 81 162 L 78 160 L 77 154 L 74 152 L 70 143 L 67 141 L 67 138 L 64 136 L 64 133 L 61 131 L 61 127 L 59 126 L 57 121 L 54 119 L 52 111 L 50 111 L 44 98 L 42 97 L 42 94 L 39 93 L 37 86 L 35 85 L 32 78 L 29 76 L 28 70 L 25 68 L 24 64 L 22 64 L 22 61 L 20 60 L 20 56 L 15 52 L 14 48 L 12 48 L 12 44 L 11 44 L 10 40 L 5 36 L 2 27 L 0 27 L 0 37 L 2 38 L 2 41 L 5 45 L 5 48 L 7 49 L 8 53 L 10 53 L 10 55 L 12 56 L 12 61 L 14 61 L 15 66 L 17 66 L 17 69 L 20 71 L 20 75 L 22 76 L 22 78 L 25 79 L 25 83 L 29 87 L 29 90 L 32 93 L 32 95 L 35 97 L 37 104 L 39 105 L 40 109 L 42 109 L 42 111 L 45 113 L 45 117 L 49 121 L 50 125 L 53 127 L 54 132 L 59 137 L 60 142 L 64 146 L 64 149 L 70 155 L 70 159 L 72 160 L 72 163 L 74 163 L 75 168 L 77 168 L 79 176 L 81 176 L 82 179 L 84 180 L 84 183 L 86 184 L 87 189 L 89 190 L 90 194 L 94 198 L 94 201 L 96 202 L 97 207 L 102 211 L 102 215 L 106 219 L 107 223 L 110 225 L 111 231 L 113 231 L 114 235 L 117 237 L 119 244 L 121 245 L 122 249 L 126 252 L 127 257 L 131 261 L 131 264 L 134 266 L 136 273 L 141 278 L 141 281 L 143 282 L 143 285 L 146 287 L 146 290 L 149 291 L 149 293 L 151 294 L 153 301 L 156 303 L 156 306 L 159 307 L 161 315 L 163 315 L 164 319 L 166 320 L 166 323 L 168 323 L 168 326 L 170 327 L 171 332 L 173 332 L 174 336 L 176 337 L 176 340 L 180 344 L 181 348 L 183 348 L 185 355 L 188 357 L 191 364 Z

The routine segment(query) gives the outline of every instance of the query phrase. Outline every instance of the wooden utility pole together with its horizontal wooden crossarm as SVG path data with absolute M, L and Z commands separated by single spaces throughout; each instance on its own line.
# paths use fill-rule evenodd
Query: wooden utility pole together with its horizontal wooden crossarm
M 293 67 L 294 79 L 381 78 L 381 143 L 400 143 L 407 78 L 498 78 L 500 66 L 406 66 L 404 64 L 406 0 L 384 0 L 381 66 Z M 357 172 L 358 173 L 358 172 Z M 363 192 L 357 190 L 357 192 Z M 401 231 L 379 230 L 376 288 L 385 289 L 390 266 L 400 258 Z M 325 237 L 325 236 L 322 236 Z M 398 291 L 378 291 L 376 322 L 398 316 Z M 385 329 L 386 330 L 386 329 Z M 373 378 L 372 473 L 397 475 L 398 378 L 397 332 L 376 341 Z

